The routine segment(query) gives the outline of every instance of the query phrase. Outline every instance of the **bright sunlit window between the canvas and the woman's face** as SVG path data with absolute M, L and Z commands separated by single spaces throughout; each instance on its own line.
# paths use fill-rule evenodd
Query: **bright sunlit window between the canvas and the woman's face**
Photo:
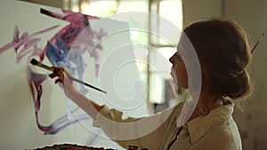
M 171 64 L 168 59 L 176 51 L 182 30 L 182 0 L 64 0 L 74 12 L 108 17 L 120 12 L 144 12 L 147 15 L 127 16 L 131 40 L 134 43 L 136 65 L 142 81 L 149 87 L 148 104 L 169 106 Z M 169 94 L 169 93 L 168 93 Z M 168 99 L 170 98 L 170 99 Z M 153 111 L 154 107 L 150 107 Z

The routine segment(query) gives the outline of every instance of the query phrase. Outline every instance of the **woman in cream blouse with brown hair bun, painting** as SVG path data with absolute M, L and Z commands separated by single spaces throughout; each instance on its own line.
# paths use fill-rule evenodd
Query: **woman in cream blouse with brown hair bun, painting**
M 174 83 L 190 88 L 189 80 L 194 77 L 188 74 L 194 69 L 194 64 L 186 66 L 183 61 L 191 57 L 186 52 L 186 46 L 182 46 L 185 36 L 197 53 L 202 81 L 192 88 L 200 91 L 198 97 L 192 94 L 193 99 L 198 98 L 197 107 L 182 126 L 177 125 L 177 120 L 184 103 L 149 117 L 124 118 L 121 112 L 99 106 L 76 91 L 66 77 L 69 72 L 63 68 L 55 67 L 60 71 L 50 76 L 59 76 L 55 83 L 64 84 L 69 99 L 94 118 L 95 126 L 101 127 L 109 137 L 125 148 L 134 145 L 150 150 L 240 150 L 242 143 L 239 130 L 231 114 L 233 101 L 245 99 L 251 91 L 247 74 L 251 54 L 246 33 L 237 23 L 223 19 L 193 22 L 183 32 L 177 52 L 169 59 L 173 64 Z M 141 120 L 144 121 L 142 125 L 139 122 Z M 116 122 L 133 123 L 125 128 Z M 147 131 L 155 122 L 158 126 Z M 123 135 L 125 130 L 135 134 L 136 138 Z M 142 134 L 143 131 L 147 131 L 147 134 Z

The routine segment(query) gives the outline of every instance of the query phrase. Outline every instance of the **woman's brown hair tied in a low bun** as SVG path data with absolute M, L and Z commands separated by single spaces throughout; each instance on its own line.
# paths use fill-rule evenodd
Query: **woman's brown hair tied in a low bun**
M 243 28 L 223 19 L 201 20 L 184 28 L 198 54 L 202 93 L 216 98 L 239 99 L 251 93 L 247 65 L 250 46 Z

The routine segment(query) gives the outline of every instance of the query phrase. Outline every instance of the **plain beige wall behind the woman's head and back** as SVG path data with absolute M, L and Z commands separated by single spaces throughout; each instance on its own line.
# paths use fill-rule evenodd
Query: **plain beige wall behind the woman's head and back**
M 252 43 L 267 30 L 266 0 L 183 0 L 184 24 L 210 17 L 236 20 Z M 267 37 L 255 50 L 250 74 L 254 94 L 244 103 L 245 112 L 236 109 L 234 118 L 239 125 L 244 150 L 267 149 Z

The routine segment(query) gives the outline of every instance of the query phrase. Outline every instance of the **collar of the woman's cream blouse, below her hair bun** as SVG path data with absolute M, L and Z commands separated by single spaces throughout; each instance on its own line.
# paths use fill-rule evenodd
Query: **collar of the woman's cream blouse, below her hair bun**
M 231 118 L 234 104 L 228 104 L 222 107 L 216 107 L 204 116 L 199 116 L 190 122 L 187 122 L 191 143 L 195 143 L 202 138 L 216 122 L 222 122 Z

